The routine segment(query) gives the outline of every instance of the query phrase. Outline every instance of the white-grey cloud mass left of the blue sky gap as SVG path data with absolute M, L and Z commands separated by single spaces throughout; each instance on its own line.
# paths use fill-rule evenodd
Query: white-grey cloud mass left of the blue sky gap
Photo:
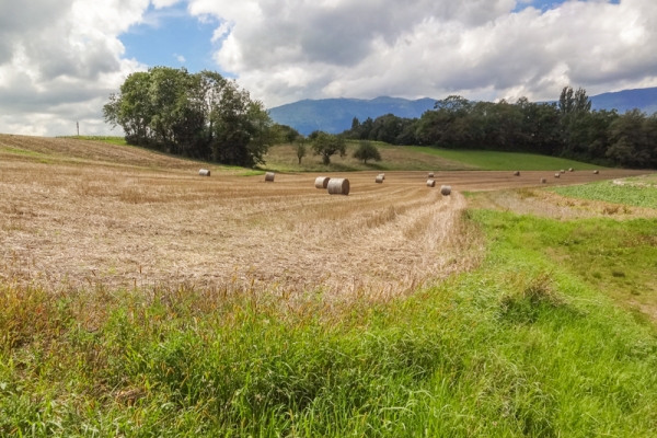
M 149 0 L 0 2 L 0 131 L 107 132 L 102 106 L 125 77 L 117 36 L 139 23 Z

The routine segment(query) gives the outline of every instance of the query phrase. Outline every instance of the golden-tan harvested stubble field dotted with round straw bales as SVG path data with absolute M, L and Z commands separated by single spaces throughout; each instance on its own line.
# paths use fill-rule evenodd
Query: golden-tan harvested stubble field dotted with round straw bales
M 446 198 L 426 187 L 426 172 L 390 172 L 382 185 L 376 172 L 326 174 L 351 183 L 348 197 L 328 196 L 314 187 L 318 174 L 278 174 L 275 184 L 215 170 L 199 177 L 197 162 L 139 149 L 123 155 L 123 147 L 12 138 L 11 148 L 84 165 L 0 155 L 0 275 L 74 287 L 403 293 L 476 263 L 477 235 L 462 229 L 459 192 L 538 186 L 545 174 L 438 173 L 437 183 L 454 191 Z M 0 148 L 8 142 L 0 137 Z M 575 172 L 558 184 L 638 173 Z

